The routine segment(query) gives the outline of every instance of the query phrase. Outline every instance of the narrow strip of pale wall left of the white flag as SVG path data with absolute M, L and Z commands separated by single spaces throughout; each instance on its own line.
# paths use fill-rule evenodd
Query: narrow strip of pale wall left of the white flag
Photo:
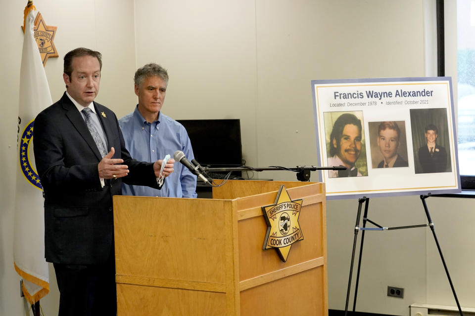
M 21 9 L 13 1 L 3 1 L 3 12 L 18 12 Z M 24 315 L 23 298 L 20 298 L 19 277 L 13 268 L 13 204 L 15 194 L 16 130 L 18 118 L 18 83 L 21 58 L 20 19 L 12 14 L 3 14 L 0 27 L 8 30 L 5 43 L 8 49 L 1 50 L 0 93 L 3 98 L 0 115 L 0 162 L 2 181 L 0 190 L 0 315 Z M 16 67 L 14 67 L 16 65 Z

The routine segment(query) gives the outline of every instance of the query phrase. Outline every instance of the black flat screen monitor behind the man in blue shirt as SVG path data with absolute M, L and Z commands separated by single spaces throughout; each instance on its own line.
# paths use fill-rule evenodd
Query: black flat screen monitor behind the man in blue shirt
M 187 129 L 196 161 L 207 167 L 242 165 L 239 119 L 177 119 Z

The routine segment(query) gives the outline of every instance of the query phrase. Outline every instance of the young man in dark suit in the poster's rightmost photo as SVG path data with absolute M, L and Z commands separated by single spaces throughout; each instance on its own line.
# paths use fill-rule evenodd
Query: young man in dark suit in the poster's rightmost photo
M 423 173 L 447 172 L 447 152 L 437 145 L 438 129 L 434 124 L 426 126 L 427 144 L 419 148 L 419 162 Z

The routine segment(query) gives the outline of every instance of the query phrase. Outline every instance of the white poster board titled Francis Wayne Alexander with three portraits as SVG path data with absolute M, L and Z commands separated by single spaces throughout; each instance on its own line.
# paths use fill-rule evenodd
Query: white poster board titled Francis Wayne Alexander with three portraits
M 460 192 L 451 78 L 311 85 L 328 199 Z

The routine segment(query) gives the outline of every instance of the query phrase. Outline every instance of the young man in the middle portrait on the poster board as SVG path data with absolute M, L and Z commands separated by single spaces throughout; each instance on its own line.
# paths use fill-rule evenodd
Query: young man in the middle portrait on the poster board
M 384 159 L 378 164 L 378 168 L 407 167 L 409 164 L 402 158 L 399 149 L 401 130 L 395 121 L 381 122 L 378 126 L 378 147 Z

